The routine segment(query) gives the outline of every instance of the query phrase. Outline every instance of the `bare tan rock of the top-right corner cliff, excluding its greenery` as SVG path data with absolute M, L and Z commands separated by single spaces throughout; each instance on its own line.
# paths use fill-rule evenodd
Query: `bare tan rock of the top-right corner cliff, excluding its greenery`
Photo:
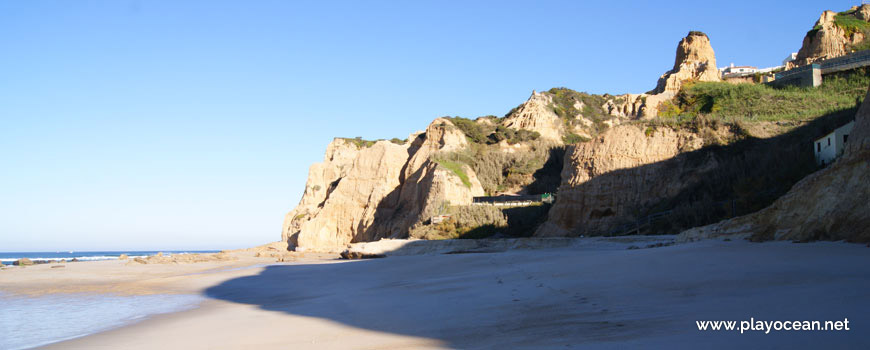
M 852 8 L 849 12 L 845 16 L 854 16 L 865 22 L 870 20 L 870 4 Z M 816 25 L 804 37 L 795 60 L 787 64 L 787 69 L 843 56 L 849 53 L 849 47 L 864 41 L 864 33 L 860 30 L 847 32 L 838 26 L 835 23 L 837 15 L 834 11 L 822 12 Z

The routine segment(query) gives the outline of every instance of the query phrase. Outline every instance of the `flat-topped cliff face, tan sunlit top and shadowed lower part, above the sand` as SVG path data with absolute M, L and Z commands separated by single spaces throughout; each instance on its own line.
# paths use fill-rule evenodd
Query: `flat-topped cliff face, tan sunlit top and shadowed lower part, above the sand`
M 691 132 L 623 125 L 576 145 L 565 156 L 556 203 L 535 235 L 610 233 L 714 168 L 712 159 L 676 158 L 703 144 Z

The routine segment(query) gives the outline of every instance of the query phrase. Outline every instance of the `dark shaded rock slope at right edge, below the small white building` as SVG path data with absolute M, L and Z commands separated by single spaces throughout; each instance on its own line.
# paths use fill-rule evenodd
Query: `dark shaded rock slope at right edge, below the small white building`
M 842 158 L 807 176 L 756 213 L 697 227 L 682 240 L 718 236 L 753 240 L 870 241 L 870 91 L 858 110 Z

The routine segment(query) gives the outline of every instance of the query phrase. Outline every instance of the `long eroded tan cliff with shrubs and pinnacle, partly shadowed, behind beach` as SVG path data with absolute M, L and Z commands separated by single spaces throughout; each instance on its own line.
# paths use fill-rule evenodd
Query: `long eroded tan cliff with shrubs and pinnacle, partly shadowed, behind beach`
M 857 96 L 836 86 L 850 89 L 857 80 L 816 90 L 845 96 L 836 101 L 777 93 L 783 105 L 770 109 L 766 100 L 729 100 L 732 90 L 743 91 L 722 88 L 733 85 L 695 84 L 707 86 L 707 95 L 683 102 L 702 106 L 673 104 L 676 92 L 682 89 L 683 98 L 692 90 L 683 88 L 686 82 L 719 81 L 715 64 L 709 38 L 690 32 L 677 45 L 672 69 L 648 94 L 553 88 L 533 92 L 503 118 L 438 118 L 405 142 L 335 139 L 324 161 L 311 167 L 302 200 L 285 217 L 282 238 L 290 249 L 334 251 L 348 243 L 409 236 L 624 234 L 638 219 L 658 213 L 669 216 L 645 232 L 675 233 L 757 211 L 815 170 L 804 142 L 854 106 Z M 764 88 L 748 93 L 756 90 Z M 659 117 L 664 101 L 672 102 L 672 113 Z M 827 109 L 799 114 L 802 120 L 755 120 L 789 117 L 784 105 L 806 109 L 807 103 Z M 716 113 L 730 114 L 722 119 Z M 753 117 L 739 117 L 746 114 Z M 838 181 L 848 182 L 843 176 Z M 552 207 L 470 205 L 475 196 L 553 192 L 558 194 Z M 429 220 L 445 214 L 451 217 L 444 222 Z

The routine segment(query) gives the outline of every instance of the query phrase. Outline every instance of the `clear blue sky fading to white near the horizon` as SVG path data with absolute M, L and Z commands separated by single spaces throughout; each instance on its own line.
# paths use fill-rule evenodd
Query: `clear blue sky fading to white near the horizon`
M 689 30 L 767 67 L 858 1 L 3 1 L 0 251 L 280 238 L 333 137 L 640 93 Z

